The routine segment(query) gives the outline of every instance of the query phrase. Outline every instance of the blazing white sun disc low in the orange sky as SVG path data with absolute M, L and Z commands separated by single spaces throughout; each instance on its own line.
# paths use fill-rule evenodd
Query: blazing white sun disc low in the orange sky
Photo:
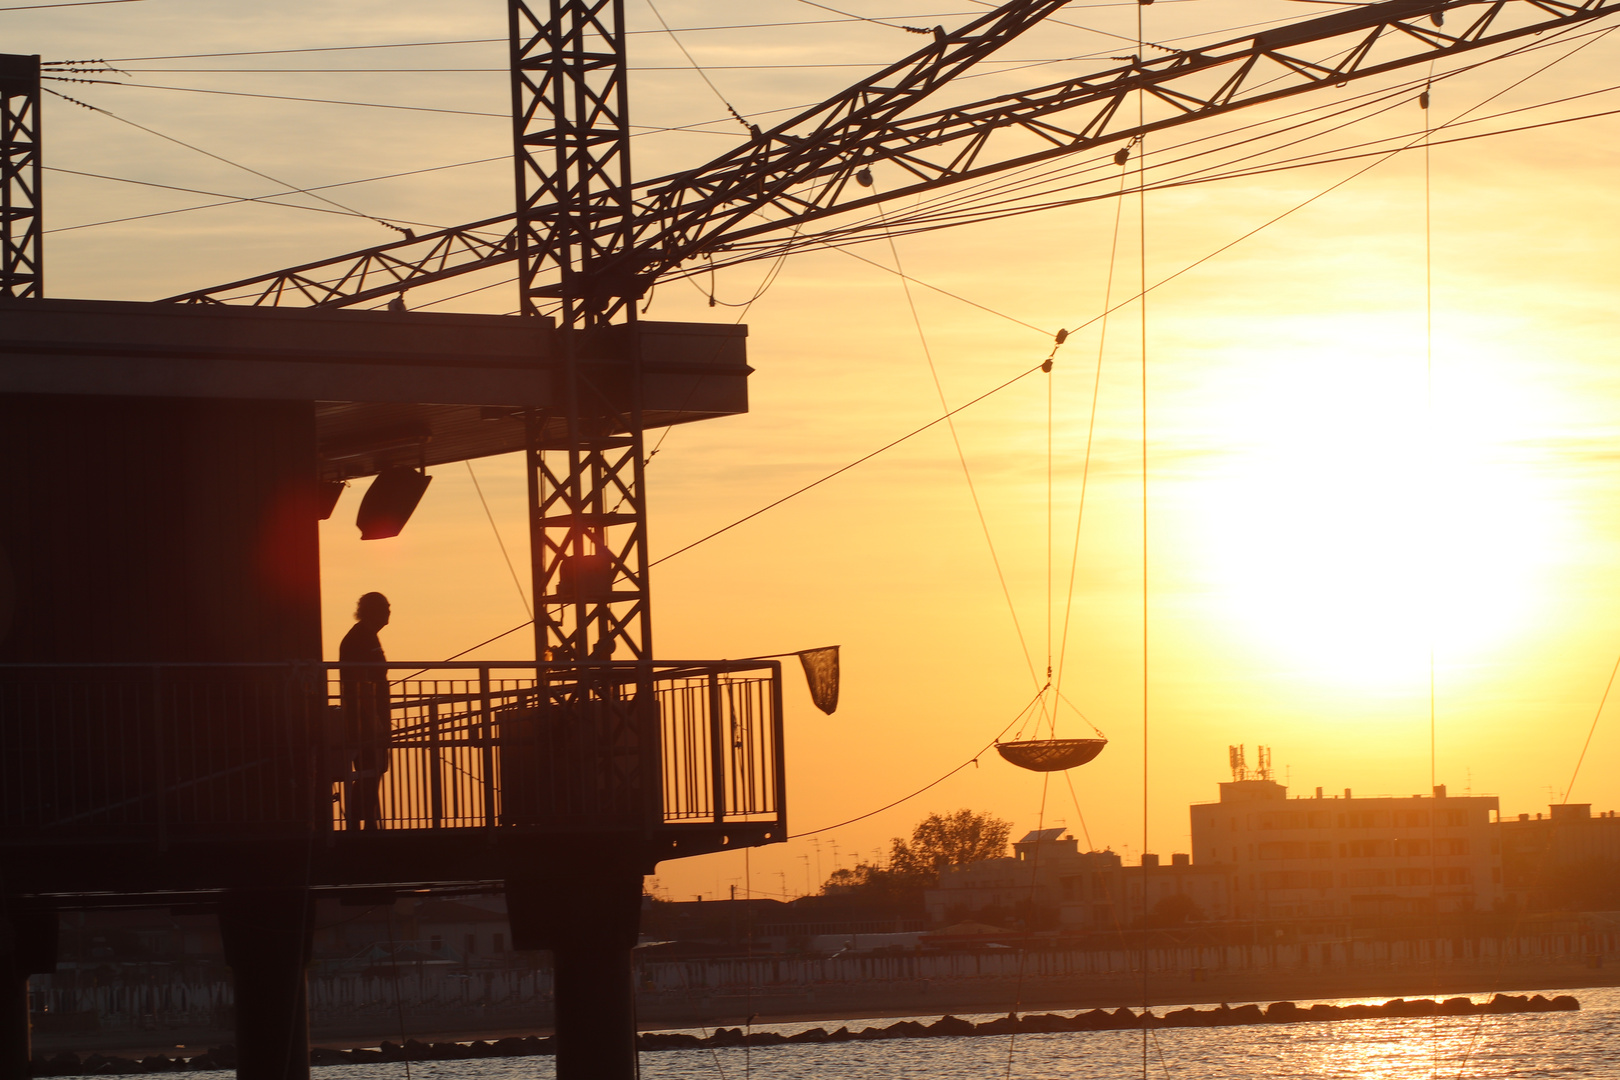
M 1281 345 L 1286 342 L 1286 347 Z M 1536 619 L 1563 525 L 1526 434 L 1555 403 L 1481 342 L 1312 319 L 1228 356 L 1192 541 L 1218 619 L 1299 675 L 1375 690 Z

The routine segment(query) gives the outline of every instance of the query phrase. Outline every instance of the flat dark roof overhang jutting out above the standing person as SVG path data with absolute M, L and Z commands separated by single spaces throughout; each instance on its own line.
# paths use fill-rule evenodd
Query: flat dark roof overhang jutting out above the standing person
M 565 340 L 539 317 L 0 298 L 0 393 L 316 402 L 321 474 L 368 476 L 520 450 L 528 411 L 561 436 L 570 345 L 609 397 L 640 358 L 643 427 L 745 413 L 747 334 L 637 322 Z

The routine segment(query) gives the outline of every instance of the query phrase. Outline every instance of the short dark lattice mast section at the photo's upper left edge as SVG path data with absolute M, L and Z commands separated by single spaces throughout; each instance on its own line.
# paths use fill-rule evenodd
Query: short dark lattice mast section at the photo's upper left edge
M 0 55 L 0 296 L 42 296 L 39 57 Z

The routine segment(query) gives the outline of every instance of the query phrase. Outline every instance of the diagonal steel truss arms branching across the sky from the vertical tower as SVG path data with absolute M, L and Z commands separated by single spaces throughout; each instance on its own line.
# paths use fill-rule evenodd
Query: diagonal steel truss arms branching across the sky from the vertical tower
M 1620 0 L 1387 0 L 1017 94 L 917 117 L 899 115 L 941 86 L 941 73 L 959 73 L 969 55 L 980 60 L 1030 24 L 1011 21 L 1011 16 L 998 23 L 996 16 L 1014 8 L 1043 16 L 1051 6 L 1006 5 L 873 79 L 755 134 L 708 165 L 635 185 L 630 243 L 624 243 L 620 223 L 614 222 L 612 246 L 606 249 L 620 254 L 603 257 L 601 274 L 608 283 L 598 285 L 596 295 L 637 295 L 685 259 L 729 243 L 802 228 L 833 214 L 1567 29 L 1612 15 Z M 1307 57 L 1307 49 L 1325 52 L 1328 58 Z M 1121 108 L 1137 91 L 1149 96 L 1150 113 L 1142 125 Z M 881 193 L 862 186 L 860 170 L 876 162 L 899 165 L 912 181 Z M 778 217 L 766 220 L 766 212 Z M 481 225 L 512 220 L 489 219 Z M 345 291 L 345 282 L 355 280 L 355 267 L 384 253 L 399 253 L 395 257 L 408 261 L 410 253 L 444 235 L 397 241 L 173 300 L 209 303 L 240 296 L 248 303 L 280 303 L 282 296 L 296 298 L 296 290 L 287 290 L 285 282 L 298 277 L 329 282 L 332 291 L 321 303 L 342 306 L 514 257 L 510 253 L 468 256 L 431 275 L 373 282 Z

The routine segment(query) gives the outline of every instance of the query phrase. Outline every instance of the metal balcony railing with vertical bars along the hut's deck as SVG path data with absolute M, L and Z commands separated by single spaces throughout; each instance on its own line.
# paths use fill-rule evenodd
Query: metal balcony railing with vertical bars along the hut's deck
M 0 836 L 782 818 L 776 662 L 0 665 Z

